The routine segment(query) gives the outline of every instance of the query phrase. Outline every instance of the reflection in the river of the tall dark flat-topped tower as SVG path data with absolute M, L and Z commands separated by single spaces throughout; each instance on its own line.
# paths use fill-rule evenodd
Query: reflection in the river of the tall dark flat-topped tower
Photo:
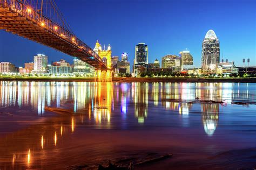
M 149 83 L 132 83 L 132 96 L 134 97 L 134 114 L 139 123 L 144 123 L 147 117 Z

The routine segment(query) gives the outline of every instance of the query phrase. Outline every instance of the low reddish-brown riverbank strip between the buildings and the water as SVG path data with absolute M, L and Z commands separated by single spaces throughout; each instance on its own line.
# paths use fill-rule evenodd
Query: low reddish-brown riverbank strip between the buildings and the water
M 94 82 L 95 78 L 52 78 L 52 77 L 0 77 L 0 81 L 64 81 L 64 82 Z M 252 78 L 194 78 L 194 77 L 113 77 L 112 82 L 201 82 L 201 83 L 256 83 L 256 77 Z

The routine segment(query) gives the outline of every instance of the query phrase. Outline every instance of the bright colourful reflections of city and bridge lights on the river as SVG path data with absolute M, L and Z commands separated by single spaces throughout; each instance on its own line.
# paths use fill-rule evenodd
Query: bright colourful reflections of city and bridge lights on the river
M 59 154 L 59 147 L 74 143 L 71 136 L 75 138 L 83 125 L 92 125 L 95 129 L 114 129 L 119 124 L 126 124 L 127 128 L 134 126 L 134 122 L 170 126 L 171 121 L 165 124 L 164 119 L 172 116 L 177 122 L 179 118 L 187 120 L 188 126 L 190 116 L 199 115 L 198 121 L 204 127 L 201 130 L 213 136 L 217 133 L 220 107 L 223 107 L 219 103 L 192 104 L 161 99 L 199 97 L 200 100 L 226 100 L 226 104 L 230 104 L 237 99 L 255 100 L 255 89 L 250 86 L 241 83 L 0 82 L 1 109 L 24 109 L 25 115 L 39 117 L 38 124 L 28 123 L 24 130 L 1 138 L 0 148 L 8 149 L 0 151 L 0 165 L 2 162 L 15 168 L 24 162 L 27 166 L 34 161 L 39 161 L 37 164 L 51 162 L 50 159 Z M 45 110 L 46 106 L 72 109 L 73 113 L 56 117 Z M 40 119 L 48 114 L 51 116 L 47 119 Z M 51 153 L 55 154 L 51 157 Z

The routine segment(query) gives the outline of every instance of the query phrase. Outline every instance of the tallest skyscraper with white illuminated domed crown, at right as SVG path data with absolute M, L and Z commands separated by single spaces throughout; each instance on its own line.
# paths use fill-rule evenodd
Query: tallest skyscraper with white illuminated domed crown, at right
M 220 61 L 220 42 L 213 30 L 209 30 L 203 40 L 201 67 L 203 70 L 213 70 Z

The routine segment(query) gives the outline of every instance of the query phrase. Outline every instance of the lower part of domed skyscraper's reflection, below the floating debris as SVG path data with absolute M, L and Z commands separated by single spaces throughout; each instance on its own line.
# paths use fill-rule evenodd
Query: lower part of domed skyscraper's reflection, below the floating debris
M 219 103 L 201 104 L 202 121 L 208 136 L 212 136 L 219 121 Z

